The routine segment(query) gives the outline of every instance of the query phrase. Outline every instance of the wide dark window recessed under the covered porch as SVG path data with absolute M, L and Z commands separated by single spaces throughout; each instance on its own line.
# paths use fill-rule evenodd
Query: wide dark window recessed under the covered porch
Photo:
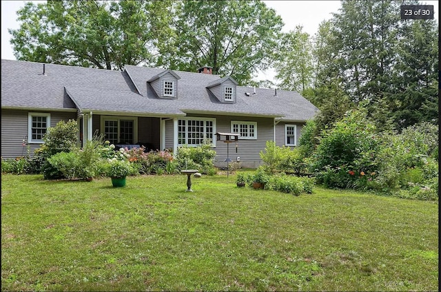
M 101 132 L 111 144 L 134 144 L 138 142 L 137 118 L 101 116 Z

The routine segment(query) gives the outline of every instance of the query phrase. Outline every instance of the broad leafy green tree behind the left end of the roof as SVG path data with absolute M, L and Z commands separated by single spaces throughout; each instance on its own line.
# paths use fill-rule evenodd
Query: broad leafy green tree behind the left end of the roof
M 170 1 L 26 3 L 9 30 L 18 60 L 122 70 L 154 63 L 172 34 Z

